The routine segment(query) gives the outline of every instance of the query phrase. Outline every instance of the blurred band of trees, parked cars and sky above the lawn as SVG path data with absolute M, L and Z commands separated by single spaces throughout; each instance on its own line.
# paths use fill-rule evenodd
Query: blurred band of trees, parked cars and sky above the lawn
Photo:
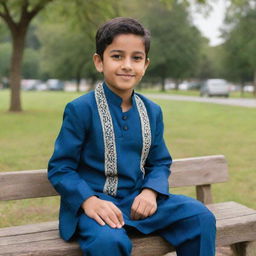
M 101 79 L 91 61 L 95 31 L 109 18 L 128 16 L 152 33 L 151 65 L 140 89 L 255 96 L 255 5 L 251 0 L 0 1 L 0 89 L 11 87 L 14 111 L 22 108 L 20 89 L 92 89 Z

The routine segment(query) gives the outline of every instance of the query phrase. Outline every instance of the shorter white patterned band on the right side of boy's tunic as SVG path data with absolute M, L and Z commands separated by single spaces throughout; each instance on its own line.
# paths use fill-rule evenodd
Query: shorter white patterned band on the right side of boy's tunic
M 140 169 L 144 176 L 145 175 L 144 165 L 151 147 L 151 129 L 150 129 L 147 109 L 145 107 L 144 102 L 138 95 L 135 95 L 135 101 L 139 111 L 141 129 L 142 129 L 143 146 L 142 146 L 141 159 L 140 159 Z

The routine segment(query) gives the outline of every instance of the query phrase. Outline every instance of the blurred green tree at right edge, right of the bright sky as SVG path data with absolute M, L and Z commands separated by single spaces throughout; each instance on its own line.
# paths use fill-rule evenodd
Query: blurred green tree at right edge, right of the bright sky
M 241 13 L 228 17 L 231 30 L 226 31 L 226 75 L 242 85 L 254 81 L 256 96 L 256 4 L 243 6 Z

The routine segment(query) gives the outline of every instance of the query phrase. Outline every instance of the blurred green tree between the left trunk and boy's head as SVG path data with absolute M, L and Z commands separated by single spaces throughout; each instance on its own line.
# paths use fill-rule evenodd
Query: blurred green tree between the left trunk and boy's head
M 42 72 L 59 79 L 75 79 L 77 91 L 81 78 L 90 78 L 92 82 L 98 79 L 92 63 L 96 29 L 107 19 L 118 16 L 118 6 L 114 0 L 77 0 L 77 4 L 57 6 L 54 14 L 41 19 L 37 36 L 42 45 Z

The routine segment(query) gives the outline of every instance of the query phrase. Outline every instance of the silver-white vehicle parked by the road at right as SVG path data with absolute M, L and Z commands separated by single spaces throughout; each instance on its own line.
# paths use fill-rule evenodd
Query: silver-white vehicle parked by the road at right
M 229 96 L 229 85 L 224 79 L 208 79 L 206 80 L 201 89 L 200 96 Z

